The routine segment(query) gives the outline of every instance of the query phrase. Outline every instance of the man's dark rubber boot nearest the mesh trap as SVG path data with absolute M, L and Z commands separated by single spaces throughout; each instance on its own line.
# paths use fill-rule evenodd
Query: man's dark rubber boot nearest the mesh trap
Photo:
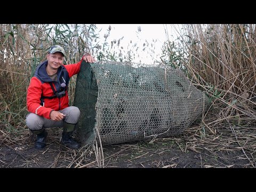
M 77 149 L 81 147 L 81 144 L 72 138 L 72 133 L 75 129 L 75 126 L 76 124 L 69 124 L 69 123 L 63 122 L 63 132 L 62 132 L 61 143 L 70 149 Z

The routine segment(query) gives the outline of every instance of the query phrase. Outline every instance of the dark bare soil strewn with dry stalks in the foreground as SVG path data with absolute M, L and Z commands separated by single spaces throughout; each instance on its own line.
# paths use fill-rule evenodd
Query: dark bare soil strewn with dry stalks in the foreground
M 252 167 L 242 150 L 209 150 L 207 145 L 189 147 L 180 137 L 103 146 L 104 161 L 99 163 L 93 146 L 71 150 L 60 144 L 60 131 L 48 132 L 44 149 L 34 148 L 34 138 L 27 135 L 22 143 L 0 146 L 0 167 Z M 214 151 L 214 152 L 212 152 Z

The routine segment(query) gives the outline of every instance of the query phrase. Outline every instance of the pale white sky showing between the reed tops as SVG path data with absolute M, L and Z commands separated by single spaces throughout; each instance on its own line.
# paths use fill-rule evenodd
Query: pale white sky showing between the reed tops
M 110 44 L 110 42 L 114 39 L 118 41 L 118 39 L 121 39 L 123 37 L 123 39 L 120 41 L 119 47 L 123 47 L 121 51 L 125 52 L 131 50 L 132 45 L 136 43 L 139 49 L 137 51 L 133 49 L 135 53 L 135 59 L 133 60 L 133 62 L 141 62 L 148 65 L 154 64 L 154 60 L 156 59 L 159 60 L 159 55 L 161 55 L 162 53 L 162 47 L 167 38 L 169 38 L 171 41 L 175 39 L 175 33 L 173 32 L 174 25 L 97 24 L 97 28 L 100 30 L 99 34 L 101 37 L 101 43 L 105 41 L 104 36 L 108 34 L 109 26 L 111 26 L 111 30 L 109 36 L 107 37 L 107 42 Z M 139 27 L 140 30 L 138 30 Z M 169 35 L 166 35 L 166 31 Z M 148 43 L 148 47 L 144 43 L 146 45 Z M 143 44 L 145 46 L 143 46 Z M 144 49 L 145 47 L 146 49 Z

